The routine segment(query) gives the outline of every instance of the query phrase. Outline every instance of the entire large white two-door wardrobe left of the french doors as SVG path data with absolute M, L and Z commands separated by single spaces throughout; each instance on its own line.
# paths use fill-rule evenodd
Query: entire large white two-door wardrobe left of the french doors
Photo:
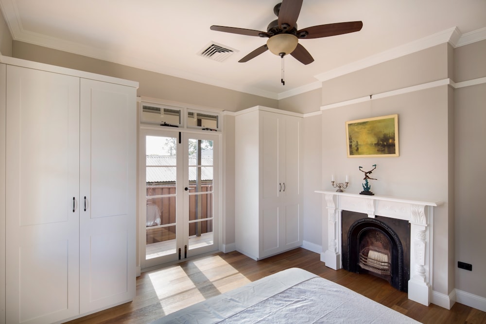
M 132 300 L 138 83 L 0 62 L 0 322 L 64 322 Z

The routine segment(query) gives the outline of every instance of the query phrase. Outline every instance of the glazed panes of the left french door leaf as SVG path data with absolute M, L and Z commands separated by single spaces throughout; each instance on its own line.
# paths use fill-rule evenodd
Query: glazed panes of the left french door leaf
M 176 137 L 146 136 L 145 258 L 177 252 Z

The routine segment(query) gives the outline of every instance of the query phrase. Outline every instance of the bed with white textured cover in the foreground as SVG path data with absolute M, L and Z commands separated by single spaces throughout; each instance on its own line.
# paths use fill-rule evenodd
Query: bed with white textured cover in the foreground
M 168 314 L 162 323 L 419 323 L 308 271 L 292 268 Z

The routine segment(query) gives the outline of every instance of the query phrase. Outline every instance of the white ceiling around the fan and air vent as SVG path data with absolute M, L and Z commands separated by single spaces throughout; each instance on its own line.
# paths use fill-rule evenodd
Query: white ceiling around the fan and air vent
M 0 8 L 15 40 L 274 99 L 437 39 L 486 38 L 486 0 L 304 0 L 298 29 L 355 20 L 363 21 L 363 29 L 299 40 L 315 61 L 303 65 L 286 56 L 281 85 L 281 59 L 270 51 L 238 63 L 266 38 L 209 30 L 222 25 L 266 31 L 277 18 L 273 7 L 278 2 L 0 0 Z M 209 42 L 239 52 L 224 62 L 199 56 Z

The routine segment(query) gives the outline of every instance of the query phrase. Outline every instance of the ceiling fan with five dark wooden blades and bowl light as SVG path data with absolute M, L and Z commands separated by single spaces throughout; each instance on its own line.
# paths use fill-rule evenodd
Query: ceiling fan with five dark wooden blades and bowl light
M 266 32 L 237 27 L 211 26 L 210 29 L 218 32 L 242 34 L 248 36 L 268 37 L 267 43 L 250 52 L 238 62 L 248 62 L 261 53 L 270 50 L 283 58 L 290 54 L 299 62 L 309 64 L 314 61 L 312 55 L 298 43 L 299 39 L 321 38 L 340 34 L 359 32 L 363 27 L 362 21 L 338 22 L 297 29 L 297 18 L 303 0 L 282 0 L 274 7 L 278 19 L 272 21 Z

